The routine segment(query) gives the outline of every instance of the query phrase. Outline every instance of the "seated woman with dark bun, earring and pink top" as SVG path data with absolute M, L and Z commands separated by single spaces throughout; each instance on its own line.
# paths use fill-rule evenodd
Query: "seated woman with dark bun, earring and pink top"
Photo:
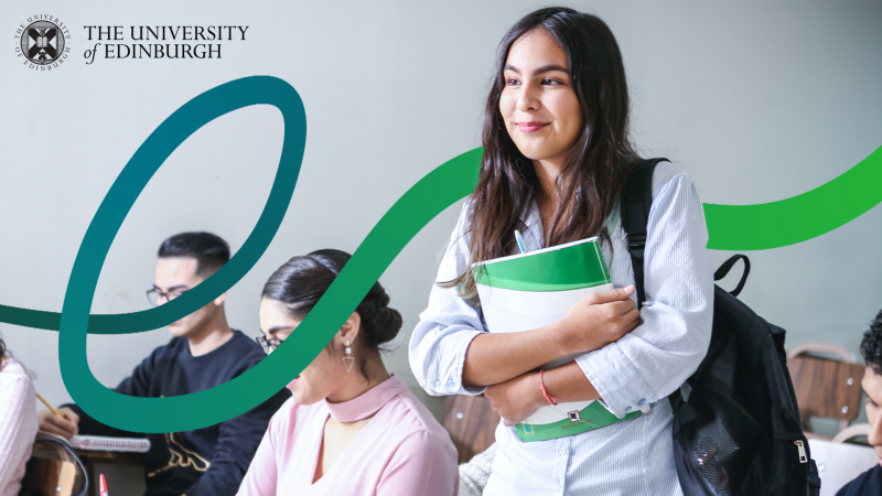
M 340 250 L 313 251 L 269 278 L 258 337 L 267 353 L 294 332 L 348 259 Z M 450 436 L 380 358 L 379 346 L 401 328 L 401 314 L 388 304 L 375 283 L 289 385 L 293 398 L 270 420 L 240 495 L 456 495 Z

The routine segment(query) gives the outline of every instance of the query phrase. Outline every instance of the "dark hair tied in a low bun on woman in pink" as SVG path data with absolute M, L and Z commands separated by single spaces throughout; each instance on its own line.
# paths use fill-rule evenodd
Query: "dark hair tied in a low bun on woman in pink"
M 303 320 L 349 258 L 349 254 L 334 249 L 293 257 L 269 277 L 262 296 L 282 303 L 289 315 Z M 374 283 L 355 311 L 362 317 L 362 325 L 354 348 L 379 352 L 380 346 L 395 339 L 401 330 L 401 314 L 389 308 L 389 295 L 379 282 Z M 358 363 L 362 375 L 367 377 L 365 360 Z

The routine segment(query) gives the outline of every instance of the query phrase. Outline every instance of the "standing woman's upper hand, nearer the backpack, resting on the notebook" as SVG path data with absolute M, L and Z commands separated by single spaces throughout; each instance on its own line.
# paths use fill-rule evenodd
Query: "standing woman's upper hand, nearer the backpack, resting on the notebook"
M 631 300 L 634 285 L 593 293 L 573 305 L 555 324 L 555 337 L 563 356 L 593 352 L 622 338 L 641 324 L 641 312 Z

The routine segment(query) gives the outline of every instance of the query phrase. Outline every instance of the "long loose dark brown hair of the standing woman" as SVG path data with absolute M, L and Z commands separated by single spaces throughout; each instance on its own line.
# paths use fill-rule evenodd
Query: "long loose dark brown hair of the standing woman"
M 499 114 L 503 69 L 520 36 L 545 30 L 567 53 L 570 78 L 582 107 L 584 129 L 557 179 L 560 202 L 546 229 L 546 246 L 601 236 L 631 169 L 639 161 L 628 140 L 628 94 L 622 54 L 610 28 L 598 17 L 567 8 L 537 10 L 518 21 L 499 43 L 496 76 L 484 109 L 484 157 L 467 215 L 471 261 L 515 250 L 514 230 L 539 182 L 533 161 L 518 151 Z M 466 269 L 447 284 L 475 296 Z

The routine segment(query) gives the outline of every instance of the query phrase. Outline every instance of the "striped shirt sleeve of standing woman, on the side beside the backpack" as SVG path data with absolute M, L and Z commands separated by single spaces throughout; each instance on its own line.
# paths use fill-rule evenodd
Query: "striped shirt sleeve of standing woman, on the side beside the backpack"
M 643 324 L 576 359 L 617 417 L 679 388 L 707 354 L 713 324 L 713 271 L 698 192 L 689 176 L 660 163 L 653 176 L 653 198 L 644 257 Z M 627 260 L 626 252 L 620 257 Z

